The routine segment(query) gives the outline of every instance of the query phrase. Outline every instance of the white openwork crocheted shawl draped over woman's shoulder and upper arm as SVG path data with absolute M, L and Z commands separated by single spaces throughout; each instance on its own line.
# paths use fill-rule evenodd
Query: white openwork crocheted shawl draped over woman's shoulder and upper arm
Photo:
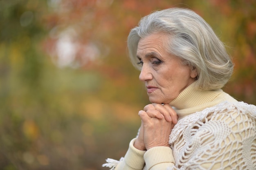
M 256 107 L 223 102 L 178 121 L 170 135 L 177 170 L 256 170 Z

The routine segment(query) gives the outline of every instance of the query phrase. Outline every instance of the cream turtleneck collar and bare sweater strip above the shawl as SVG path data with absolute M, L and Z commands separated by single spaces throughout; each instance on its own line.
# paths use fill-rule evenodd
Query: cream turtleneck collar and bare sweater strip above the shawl
M 187 88 L 185 88 L 170 105 L 173 106 L 179 119 L 204 110 L 207 107 L 215 106 L 222 101 L 236 101 L 233 97 L 223 92 L 221 89 L 218 90 L 200 90 L 195 87 L 196 82 L 193 82 Z

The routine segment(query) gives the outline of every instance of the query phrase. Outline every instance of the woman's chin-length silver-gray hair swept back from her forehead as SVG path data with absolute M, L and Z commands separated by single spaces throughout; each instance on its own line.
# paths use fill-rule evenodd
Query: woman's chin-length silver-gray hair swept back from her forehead
M 180 57 L 191 70 L 196 69 L 198 89 L 219 89 L 228 82 L 234 68 L 231 57 L 211 26 L 195 12 L 170 8 L 155 11 L 140 20 L 128 35 L 129 57 L 139 70 L 138 42 L 153 33 L 165 33 L 168 36 L 167 51 Z

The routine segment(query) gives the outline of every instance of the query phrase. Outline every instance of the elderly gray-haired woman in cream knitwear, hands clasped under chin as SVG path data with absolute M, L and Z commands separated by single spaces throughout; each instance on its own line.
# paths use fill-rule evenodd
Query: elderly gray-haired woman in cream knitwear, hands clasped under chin
M 144 17 L 128 51 L 152 104 L 111 170 L 256 170 L 256 106 L 221 88 L 233 63 L 211 27 L 189 9 Z

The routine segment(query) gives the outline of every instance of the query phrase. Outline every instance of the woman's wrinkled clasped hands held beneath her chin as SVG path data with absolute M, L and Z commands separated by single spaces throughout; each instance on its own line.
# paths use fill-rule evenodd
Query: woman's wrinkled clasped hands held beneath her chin
M 169 135 L 177 124 L 177 113 L 169 104 L 148 104 L 139 111 L 141 127 L 134 147 L 149 150 L 155 146 L 170 146 Z

